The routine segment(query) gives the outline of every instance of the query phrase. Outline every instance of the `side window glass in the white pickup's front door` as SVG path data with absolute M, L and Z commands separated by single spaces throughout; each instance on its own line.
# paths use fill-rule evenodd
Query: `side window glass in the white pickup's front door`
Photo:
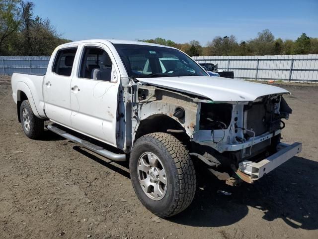
M 79 77 L 111 81 L 112 61 L 106 51 L 99 47 L 84 47 Z

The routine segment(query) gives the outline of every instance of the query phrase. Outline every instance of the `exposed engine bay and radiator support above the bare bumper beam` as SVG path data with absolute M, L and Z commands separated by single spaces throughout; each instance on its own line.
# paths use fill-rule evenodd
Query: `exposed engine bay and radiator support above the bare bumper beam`
M 239 162 L 272 152 L 292 110 L 281 95 L 253 102 L 200 103 L 198 131 L 192 140 L 219 153 L 231 152 Z M 258 157 L 260 158 L 260 157 Z

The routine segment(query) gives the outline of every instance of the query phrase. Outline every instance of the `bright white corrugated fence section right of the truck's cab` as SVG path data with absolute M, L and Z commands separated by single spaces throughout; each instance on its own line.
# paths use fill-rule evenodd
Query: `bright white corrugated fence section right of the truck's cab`
M 318 82 L 318 55 L 195 56 L 198 63 L 218 64 L 234 77 L 254 80 Z

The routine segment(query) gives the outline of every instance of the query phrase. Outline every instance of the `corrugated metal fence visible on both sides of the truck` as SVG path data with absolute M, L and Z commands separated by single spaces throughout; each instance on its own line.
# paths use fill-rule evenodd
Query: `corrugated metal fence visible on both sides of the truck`
M 199 63 L 218 64 L 235 78 L 318 82 L 318 55 L 196 56 Z M 0 75 L 13 72 L 45 74 L 49 56 L 0 56 Z

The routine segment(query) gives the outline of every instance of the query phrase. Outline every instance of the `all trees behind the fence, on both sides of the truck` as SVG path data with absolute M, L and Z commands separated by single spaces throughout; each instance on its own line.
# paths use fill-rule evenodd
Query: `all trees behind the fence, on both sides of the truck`
M 0 0 L 0 55 L 49 56 L 58 45 L 70 41 L 48 18 L 35 15 L 32 1 Z M 140 41 L 176 47 L 190 56 L 318 54 L 318 38 L 303 33 L 296 40 L 283 40 L 268 29 L 240 42 L 234 35 L 216 36 L 205 46 L 197 40 L 177 43 L 160 37 Z

